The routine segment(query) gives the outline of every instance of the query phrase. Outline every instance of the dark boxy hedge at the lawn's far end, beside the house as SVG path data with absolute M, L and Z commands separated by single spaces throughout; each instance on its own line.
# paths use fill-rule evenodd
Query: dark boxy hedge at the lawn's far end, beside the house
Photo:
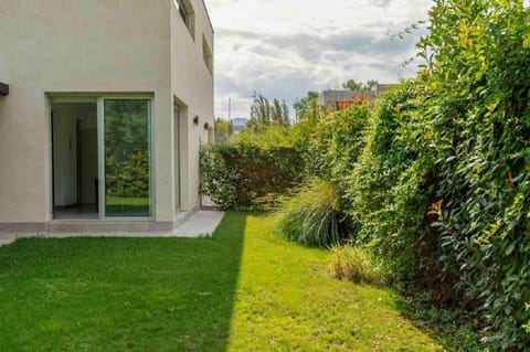
M 200 193 L 225 210 L 266 209 L 301 180 L 303 171 L 304 159 L 294 148 L 203 145 Z

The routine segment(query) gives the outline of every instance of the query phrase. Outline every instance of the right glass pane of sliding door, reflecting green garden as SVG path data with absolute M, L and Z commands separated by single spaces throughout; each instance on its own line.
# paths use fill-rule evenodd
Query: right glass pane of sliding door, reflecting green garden
M 150 217 L 150 100 L 104 99 L 105 216 Z

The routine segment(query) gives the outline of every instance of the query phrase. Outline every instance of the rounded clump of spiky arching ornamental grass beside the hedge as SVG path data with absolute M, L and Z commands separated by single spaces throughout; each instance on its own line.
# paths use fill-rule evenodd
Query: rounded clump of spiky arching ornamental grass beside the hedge
M 284 198 L 276 223 L 288 239 L 307 246 L 330 246 L 347 235 L 340 233 L 342 215 L 335 188 L 327 181 L 310 179 L 292 196 Z

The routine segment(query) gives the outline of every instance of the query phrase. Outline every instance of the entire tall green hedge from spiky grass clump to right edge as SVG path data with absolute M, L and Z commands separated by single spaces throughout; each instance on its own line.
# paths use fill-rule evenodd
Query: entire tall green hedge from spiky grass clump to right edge
M 403 281 L 476 307 L 490 350 L 528 350 L 530 11 L 434 3 L 425 67 L 379 103 L 348 206 Z

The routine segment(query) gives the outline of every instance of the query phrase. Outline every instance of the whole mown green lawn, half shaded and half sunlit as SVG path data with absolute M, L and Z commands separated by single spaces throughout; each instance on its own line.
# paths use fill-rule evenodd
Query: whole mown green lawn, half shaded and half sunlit
M 213 238 L 20 239 L 0 248 L 0 351 L 441 351 L 390 290 L 264 215 Z

